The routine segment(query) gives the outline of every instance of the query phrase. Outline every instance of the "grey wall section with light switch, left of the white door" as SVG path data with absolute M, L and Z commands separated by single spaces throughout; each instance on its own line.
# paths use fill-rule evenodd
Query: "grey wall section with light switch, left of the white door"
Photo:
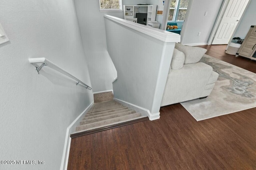
M 186 17 L 186 31 L 182 35 L 182 44 L 206 44 L 218 16 L 223 0 L 192 0 L 189 16 Z M 207 16 L 204 16 L 205 12 Z M 198 32 L 201 35 L 198 36 Z

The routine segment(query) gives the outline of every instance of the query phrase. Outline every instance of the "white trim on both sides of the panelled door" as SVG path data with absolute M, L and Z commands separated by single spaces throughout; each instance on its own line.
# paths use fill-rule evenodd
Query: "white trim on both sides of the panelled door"
M 210 35 L 210 37 L 209 37 L 209 39 L 208 39 L 207 45 L 212 45 L 212 41 L 213 41 L 214 36 L 215 36 L 215 34 L 216 34 L 216 32 L 217 32 L 217 29 L 218 29 L 218 27 L 219 27 L 219 25 L 220 25 L 220 21 L 222 20 L 222 17 L 223 17 L 223 15 L 224 15 L 225 11 L 226 11 L 226 8 L 227 8 L 227 6 L 228 6 L 229 1 L 230 1 L 230 0 L 223 0 L 222 6 L 221 6 L 221 8 L 220 8 L 220 12 L 219 12 L 219 14 L 218 14 L 218 16 L 217 16 L 217 18 L 216 18 L 214 27 L 212 28 L 212 33 L 211 33 L 211 35 Z M 246 7 L 245 7 L 245 9 L 244 9 L 244 12 L 245 12 L 246 9 L 248 8 L 248 4 L 250 3 L 250 1 L 251 1 L 251 0 L 248 1 L 247 5 L 246 5 Z M 244 12 L 243 12 L 243 14 L 242 14 L 242 16 L 241 16 L 241 19 L 242 19 L 243 16 L 244 16 Z M 238 21 L 238 23 L 237 23 L 237 25 L 236 25 L 236 28 L 234 29 L 234 32 L 232 33 L 232 36 L 231 36 L 231 37 L 234 36 L 234 34 L 235 34 L 235 32 L 236 32 L 236 29 L 238 28 L 238 25 L 240 24 L 241 19 Z M 230 44 L 230 40 L 229 40 L 229 42 L 228 42 L 228 45 L 227 45 L 226 49 L 228 48 L 229 44 Z

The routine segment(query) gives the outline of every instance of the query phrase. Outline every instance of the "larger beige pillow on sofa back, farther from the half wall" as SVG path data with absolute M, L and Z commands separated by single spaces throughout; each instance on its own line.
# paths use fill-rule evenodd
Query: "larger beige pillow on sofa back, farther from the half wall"
M 197 63 L 207 51 L 207 49 L 201 47 L 191 47 L 179 43 L 176 43 L 175 48 L 185 54 L 184 64 Z

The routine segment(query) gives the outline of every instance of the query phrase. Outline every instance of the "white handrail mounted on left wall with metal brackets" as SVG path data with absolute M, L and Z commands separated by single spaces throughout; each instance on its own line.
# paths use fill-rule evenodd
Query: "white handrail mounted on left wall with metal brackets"
M 36 67 L 36 71 L 38 72 L 39 74 L 39 71 L 41 70 L 41 68 L 43 66 L 49 66 L 50 68 L 62 73 L 62 74 L 65 74 L 66 76 L 74 79 L 77 81 L 76 85 L 78 85 L 79 83 L 86 86 L 86 89 L 88 88 L 89 90 L 92 90 L 92 88 L 90 86 L 88 86 L 87 84 L 85 84 L 84 82 L 82 82 L 81 80 L 79 80 L 78 78 L 76 78 L 75 76 L 73 76 L 72 74 L 66 72 L 65 70 L 63 70 L 62 68 L 60 68 L 59 66 L 57 66 L 56 64 L 52 63 L 51 61 L 47 60 L 46 58 L 44 57 L 41 57 L 41 58 L 29 58 L 28 61 L 33 64 L 35 67 Z M 37 63 L 42 63 L 41 66 L 38 67 Z

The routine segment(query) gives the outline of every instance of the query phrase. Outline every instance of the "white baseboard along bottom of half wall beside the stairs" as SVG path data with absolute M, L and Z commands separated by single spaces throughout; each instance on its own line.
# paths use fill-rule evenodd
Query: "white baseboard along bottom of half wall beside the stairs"
M 116 100 L 117 102 L 123 104 L 124 106 L 127 106 L 127 107 L 129 107 L 131 109 L 134 109 L 136 112 L 140 112 L 144 116 L 148 116 L 148 118 L 151 121 L 160 118 L 160 112 L 158 112 L 158 113 L 150 113 L 150 111 L 148 109 L 145 109 L 143 107 L 136 106 L 134 104 L 131 104 L 131 103 L 128 103 L 128 102 L 125 102 L 123 100 L 119 100 L 119 99 L 116 99 L 116 98 L 114 98 L 114 100 Z

